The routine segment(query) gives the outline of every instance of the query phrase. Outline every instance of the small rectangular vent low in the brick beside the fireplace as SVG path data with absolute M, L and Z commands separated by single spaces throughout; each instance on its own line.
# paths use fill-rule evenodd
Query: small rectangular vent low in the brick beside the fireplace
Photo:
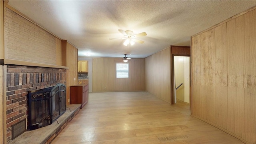
M 26 131 L 26 119 L 12 125 L 12 140 Z

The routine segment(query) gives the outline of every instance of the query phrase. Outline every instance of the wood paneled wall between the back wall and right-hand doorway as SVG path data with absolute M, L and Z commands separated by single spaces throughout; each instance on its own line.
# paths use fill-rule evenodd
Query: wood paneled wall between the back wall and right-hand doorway
M 145 58 L 146 91 L 171 102 L 171 51 L 170 47 Z

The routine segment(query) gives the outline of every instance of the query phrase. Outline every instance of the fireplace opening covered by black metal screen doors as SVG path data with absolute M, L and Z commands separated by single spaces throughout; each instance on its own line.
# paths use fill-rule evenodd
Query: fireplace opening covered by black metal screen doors
M 28 92 L 28 129 L 52 124 L 66 112 L 66 86 L 56 86 Z

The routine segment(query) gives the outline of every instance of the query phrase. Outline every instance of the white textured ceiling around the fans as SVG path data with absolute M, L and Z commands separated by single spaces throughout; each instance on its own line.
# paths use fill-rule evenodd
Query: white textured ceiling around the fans
M 256 1 L 9 0 L 40 26 L 78 48 L 78 56 L 144 58 L 170 45 L 190 46 L 190 37 L 256 6 Z M 144 43 L 124 46 L 118 31 L 132 30 Z

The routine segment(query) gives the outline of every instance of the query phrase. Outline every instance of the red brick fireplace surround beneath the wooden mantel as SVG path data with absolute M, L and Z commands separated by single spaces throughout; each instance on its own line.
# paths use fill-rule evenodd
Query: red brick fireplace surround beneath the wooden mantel
M 28 118 L 28 91 L 55 86 L 59 83 L 66 84 L 66 69 L 7 66 L 7 141 L 12 139 L 12 125 Z

